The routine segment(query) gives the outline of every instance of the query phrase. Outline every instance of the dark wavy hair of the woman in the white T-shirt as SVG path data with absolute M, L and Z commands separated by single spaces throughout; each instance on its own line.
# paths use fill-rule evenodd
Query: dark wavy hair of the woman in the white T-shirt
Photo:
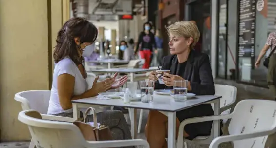
M 80 44 L 84 42 L 93 43 L 98 36 L 98 29 L 85 18 L 75 17 L 66 21 L 58 32 L 57 45 L 54 50 L 54 61 L 58 63 L 62 59 L 69 57 L 76 65 L 83 63 L 84 58 L 79 56 L 74 38 L 80 38 Z

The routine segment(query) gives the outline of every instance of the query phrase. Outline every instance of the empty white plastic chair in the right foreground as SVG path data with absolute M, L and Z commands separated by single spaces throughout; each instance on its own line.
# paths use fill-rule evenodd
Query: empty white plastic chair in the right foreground
M 234 148 L 264 148 L 267 135 L 275 132 L 275 101 L 248 99 L 237 103 L 231 114 L 190 118 L 181 122 L 178 137 L 183 137 L 189 123 L 231 119 L 228 136 L 215 138 L 209 148 L 218 148 L 222 142 L 232 141 Z M 183 148 L 183 138 L 177 139 L 177 148 Z

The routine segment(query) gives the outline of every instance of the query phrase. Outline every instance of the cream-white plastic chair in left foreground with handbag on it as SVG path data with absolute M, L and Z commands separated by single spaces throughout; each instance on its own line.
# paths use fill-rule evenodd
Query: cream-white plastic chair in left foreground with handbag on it
M 142 139 L 86 141 L 73 123 L 43 120 L 35 110 L 21 111 L 18 120 L 27 124 L 37 148 L 110 148 L 144 146 L 149 144 Z

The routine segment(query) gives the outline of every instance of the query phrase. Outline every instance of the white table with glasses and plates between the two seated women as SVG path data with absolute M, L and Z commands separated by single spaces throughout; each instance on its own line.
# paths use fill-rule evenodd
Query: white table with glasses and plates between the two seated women
M 73 100 L 73 118 L 80 118 L 78 108 L 87 107 L 87 105 L 100 105 L 100 106 L 122 106 L 130 108 L 131 116 L 131 134 L 132 138 L 136 138 L 137 124 L 136 124 L 136 109 L 149 109 L 158 110 L 168 116 L 168 148 L 175 148 L 175 134 L 176 134 L 176 112 L 179 110 L 191 108 L 204 103 L 214 103 L 214 115 L 220 114 L 220 98 L 221 96 L 195 96 L 194 99 L 186 100 L 184 102 L 175 102 L 171 96 L 154 94 L 153 102 L 131 102 L 124 104 L 121 99 L 101 100 L 96 97 Z M 219 121 L 213 121 L 214 138 L 219 136 Z

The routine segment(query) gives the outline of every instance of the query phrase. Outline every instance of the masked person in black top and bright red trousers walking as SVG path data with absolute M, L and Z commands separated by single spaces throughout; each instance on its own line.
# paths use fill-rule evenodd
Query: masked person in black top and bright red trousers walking
M 142 66 L 144 69 L 149 68 L 153 48 L 156 48 L 154 34 L 150 31 L 151 28 L 152 26 L 149 22 L 144 23 L 144 31 L 139 35 L 135 50 L 135 54 L 139 51 L 140 57 L 145 59 L 145 63 Z

